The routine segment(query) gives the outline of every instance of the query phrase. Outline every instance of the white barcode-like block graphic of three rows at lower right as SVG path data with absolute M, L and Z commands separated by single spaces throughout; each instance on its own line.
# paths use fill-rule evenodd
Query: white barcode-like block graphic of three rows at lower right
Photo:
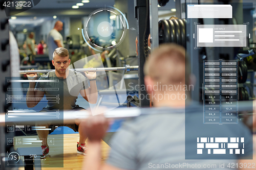
M 244 137 L 197 137 L 197 154 L 244 154 Z

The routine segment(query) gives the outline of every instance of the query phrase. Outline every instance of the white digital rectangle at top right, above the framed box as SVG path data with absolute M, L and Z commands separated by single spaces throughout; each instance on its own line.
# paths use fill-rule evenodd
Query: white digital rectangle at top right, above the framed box
M 232 6 L 187 5 L 187 18 L 232 18 Z

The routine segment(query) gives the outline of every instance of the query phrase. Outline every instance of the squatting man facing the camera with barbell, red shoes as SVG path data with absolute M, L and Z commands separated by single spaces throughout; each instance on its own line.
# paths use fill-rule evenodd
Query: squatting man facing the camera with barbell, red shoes
M 98 92 L 96 86 L 96 71 L 84 72 L 84 74 L 87 77 L 86 78 L 81 73 L 68 69 L 70 64 L 69 52 L 66 48 L 63 47 L 55 49 L 53 53 L 52 64 L 54 65 L 55 70 L 50 71 L 45 75 L 42 75 L 39 78 L 39 80 L 57 81 L 53 83 L 39 81 L 36 84 L 35 82 L 30 82 L 29 89 L 32 88 L 34 90 L 28 90 L 27 92 L 26 102 L 29 108 L 35 107 L 41 101 L 45 94 L 46 96 L 58 95 L 60 92 L 62 92 L 61 90 L 63 90 L 63 96 L 61 96 L 61 94 L 59 95 L 60 98 L 63 98 L 63 106 L 57 103 L 52 103 L 51 99 L 47 98 L 48 105 L 45 108 L 43 108 L 41 112 L 50 112 L 53 110 L 84 110 L 84 108 L 76 105 L 76 99 L 79 93 L 89 103 L 95 104 L 97 102 Z M 37 74 L 27 74 L 27 77 L 28 79 L 37 79 Z M 90 80 L 91 87 L 88 85 L 87 79 Z M 60 83 L 63 83 L 63 86 Z M 44 90 L 44 88 L 59 88 L 59 91 Z M 76 123 L 74 125 L 65 126 L 70 127 L 75 132 L 79 132 L 79 142 L 77 142 L 77 153 L 85 154 L 87 149 L 85 144 L 87 136 L 85 136 L 84 133 L 81 133 L 79 124 L 79 120 L 76 120 Z M 36 126 L 48 127 L 50 125 L 50 122 L 47 125 L 36 123 Z M 44 139 L 41 145 L 43 152 L 41 158 L 45 158 L 45 156 L 48 155 L 49 153 L 49 146 L 47 143 L 48 133 L 48 131 L 37 130 L 38 137 Z

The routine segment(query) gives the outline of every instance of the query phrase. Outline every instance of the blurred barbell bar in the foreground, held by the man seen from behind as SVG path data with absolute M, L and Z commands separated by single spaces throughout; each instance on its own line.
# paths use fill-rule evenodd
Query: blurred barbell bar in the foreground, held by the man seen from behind
M 239 101 L 239 112 L 241 111 L 250 111 L 252 112 L 253 104 L 252 101 Z M 161 114 L 161 113 L 184 113 L 185 110 L 180 109 L 178 110 L 172 110 L 170 108 L 138 108 L 138 107 L 130 107 L 130 108 L 116 108 L 113 110 L 105 111 L 104 116 L 108 118 L 129 118 L 129 117 L 138 117 L 142 115 L 150 115 L 150 114 Z M 186 110 L 186 114 L 191 114 L 195 112 L 201 111 L 198 107 L 191 107 Z M 40 112 L 40 114 L 48 114 L 47 112 Z M 64 111 L 63 113 L 63 119 L 61 118 L 53 118 L 52 116 L 42 116 L 37 115 L 35 112 L 30 112 L 28 110 L 14 110 L 14 111 L 8 111 L 7 113 L 0 113 L 0 126 L 5 126 L 6 123 L 35 123 L 40 121 L 40 123 L 43 122 L 49 122 L 50 120 L 52 123 L 74 123 L 76 119 L 84 119 L 88 118 L 91 113 L 90 111 L 84 110 L 84 111 Z M 36 116 L 28 116 L 29 114 Z M 27 115 L 26 117 L 23 115 Z M 7 116 L 7 118 L 6 118 Z M 10 117 L 9 117 L 10 116 Z M 19 116 L 19 117 L 18 117 Z

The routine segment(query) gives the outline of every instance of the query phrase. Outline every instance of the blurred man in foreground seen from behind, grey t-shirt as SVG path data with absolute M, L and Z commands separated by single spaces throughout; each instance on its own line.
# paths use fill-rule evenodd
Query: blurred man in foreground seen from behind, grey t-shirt
M 234 159 L 252 155 L 251 135 L 242 123 L 234 126 L 203 124 L 203 107 L 190 101 L 187 93 L 189 78 L 190 84 L 193 84 L 189 71 L 184 47 L 165 44 L 155 49 L 144 66 L 145 87 L 152 96 L 155 108 L 141 109 L 141 112 L 147 115 L 131 118 L 122 125 L 112 138 L 109 159 L 104 164 L 100 162 L 101 138 L 104 137 L 110 121 L 98 115 L 81 122 L 82 133 L 86 133 L 90 143 L 83 169 L 202 169 L 203 165 L 216 165 L 210 168 L 207 166 L 207 169 L 229 169 L 228 163 L 235 164 Z M 172 90 L 173 86 L 177 88 Z M 187 100 L 182 98 L 186 94 Z M 244 154 L 212 154 L 212 149 L 207 153 L 207 141 L 197 141 L 200 137 L 221 136 L 244 137 Z M 210 142 L 212 143 L 208 144 L 220 145 Z M 203 148 L 205 146 L 202 154 L 197 153 L 198 146 L 200 148 L 198 144 L 202 144 Z M 237 148 L 241 149 L 243 145 Z M 223 164 L 225 166 L 221 167 Z

